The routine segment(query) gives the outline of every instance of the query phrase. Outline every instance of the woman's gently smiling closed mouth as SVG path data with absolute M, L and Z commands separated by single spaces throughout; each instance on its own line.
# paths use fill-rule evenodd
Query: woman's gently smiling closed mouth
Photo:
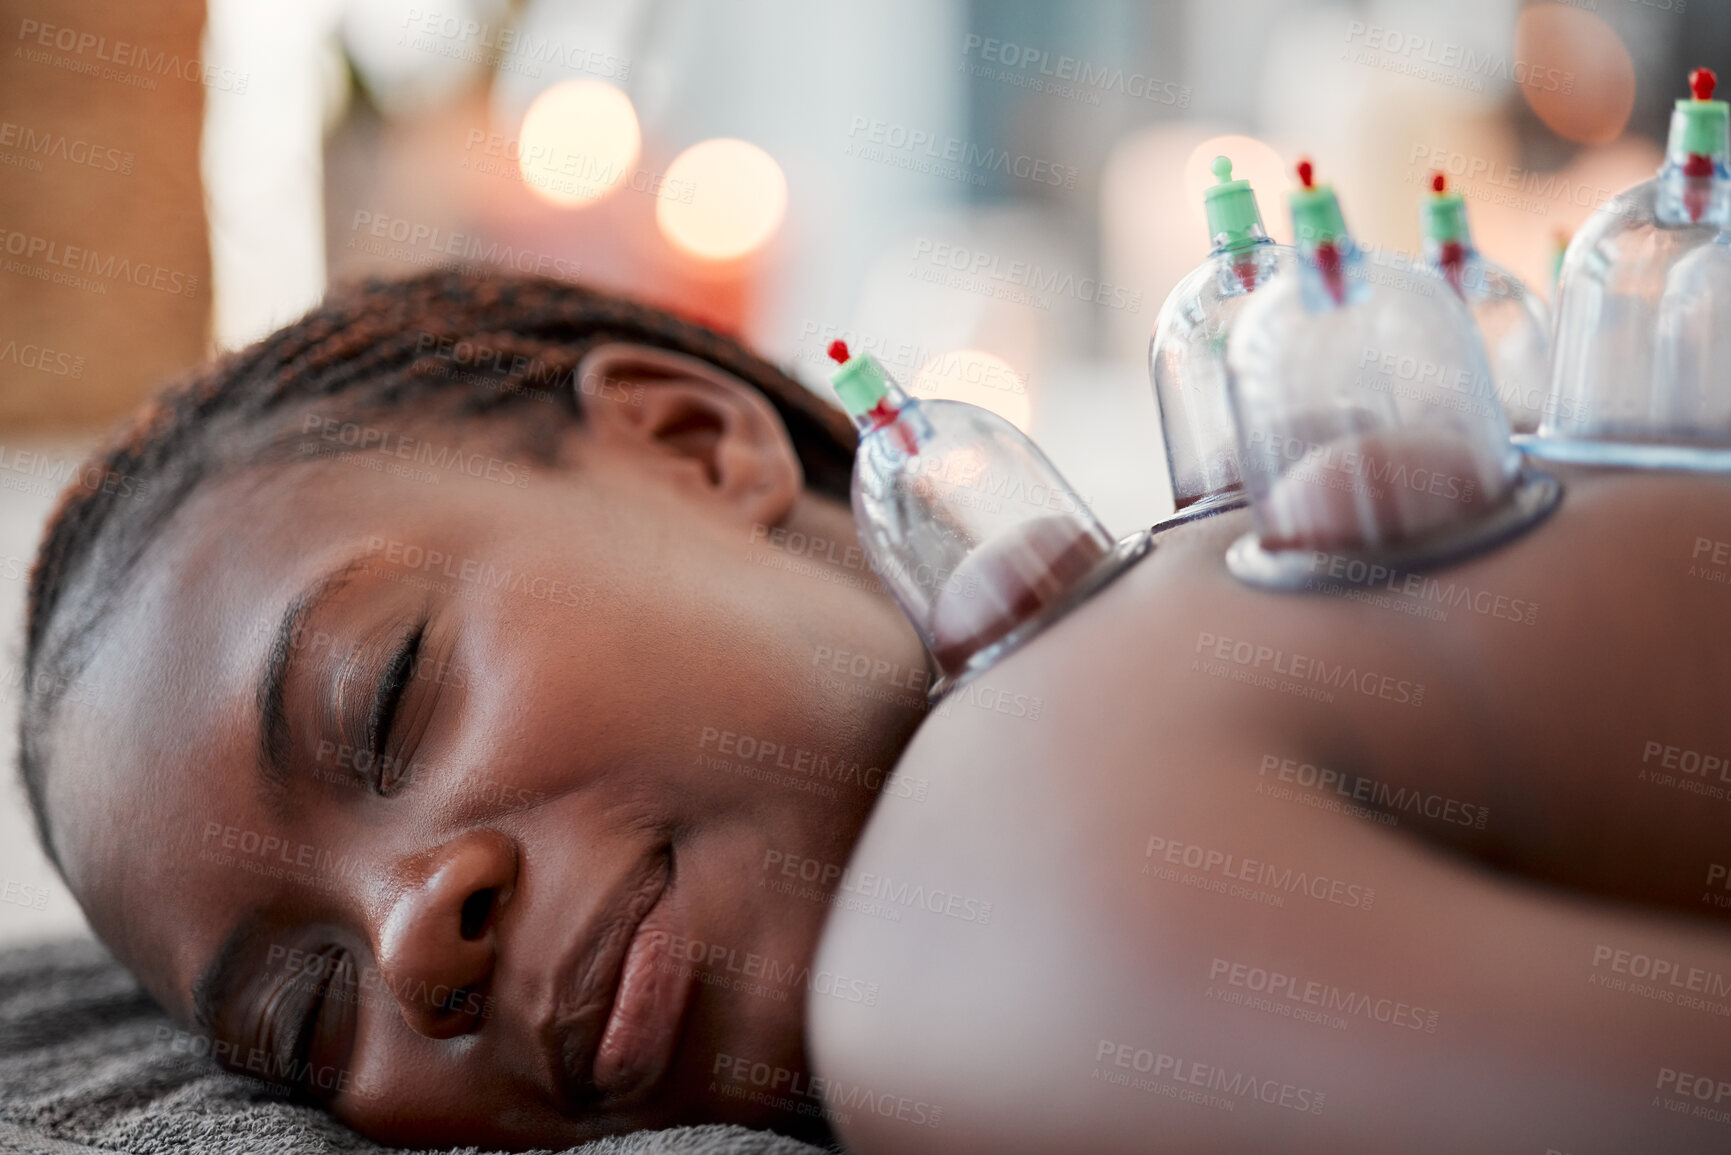
M 672 958 L 673 913 L 666 902 L 673 881 L 672 850 L 658 855 L 642 885 L 625 899 L 635 907 L 620 945 L 602 963 L 606 982 L 578 975 L 568 989 L 582 1001 L 585 989 L 606 1006 L 606 1016 L 583 1016 L 559 1032 L 559 1068 L 573 1107 L 618 1105 L 647 1094 L 672 1067 L 679 1048 L 691 971 Z

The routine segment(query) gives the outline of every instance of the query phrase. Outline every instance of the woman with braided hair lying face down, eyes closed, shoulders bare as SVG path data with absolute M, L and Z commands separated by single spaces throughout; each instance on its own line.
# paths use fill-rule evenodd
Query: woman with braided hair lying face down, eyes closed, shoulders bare
M 228 1065 L 396 1143 L 827 1110 L 862 1152 L 1458 1152 L 1568 1119 L 1631 1150 L 1665 1119 L 1648 1051 L 1689 1086 L 1712 1067 L 1722 1020 L 1605 1004 L 1582 966 L 1731 975 L 1722 914 L 1655 913 L 1700 913 L 1717 810 L 1615 779 L 1620 743 L 1731 739 L 1722 589 L 1663 566 L 1722 485 L 1570 474 L 1549 523 L 1447 571 L 1537 590 L 1539 625 L 1252 590 L 1226 514 L 923 720 L 850 443 L 772 367 L 613 298 L 338 294 L 147 412 L 50 526 L 43 840 Z M 1246 686 L 1246 639 L 1380 691 Z M 1494 821 L 1393 828 L 1288 764 Z M 1167 880 L 1193 850 L 1331 883 Z M 1395 987 L 1438 1034 L 1307 1036 L 1203 999 L 1220 961 Z M 1328 1113 L 1113 1082 L 1181 1053 Z

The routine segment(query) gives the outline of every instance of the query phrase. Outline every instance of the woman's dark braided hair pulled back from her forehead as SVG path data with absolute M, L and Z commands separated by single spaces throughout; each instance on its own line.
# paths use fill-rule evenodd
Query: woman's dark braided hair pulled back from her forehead
M 455 341 L 483 352 L 485 369 L 454 362 Z M 301 320 L 164 391 L 61 495 L 29 571 L 19 717 L 19 771 L 50 859 L 48 722 L 130 571 L 194 488 L 291 459 L 284 431 L 319 402 L 344 416 L 493 419 L 549 462 L 559 424 L 582 417 L 573 371 L 604 341 L 687 353 L 756 386 L 788 426 L 807 487 L 846 499 L 855 442 L 846 417 L 710 329 L 538 277 L 441 270 L 334 291 Z

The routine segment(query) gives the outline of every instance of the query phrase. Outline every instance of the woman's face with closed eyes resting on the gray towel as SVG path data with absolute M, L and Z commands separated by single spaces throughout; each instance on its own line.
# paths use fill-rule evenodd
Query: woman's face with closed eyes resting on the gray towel
M 917 720 L 814 670 L 923 660 L 869 582 L 774 552 L 850 533 L 779 421 L 682 390 L 592 405 L 573 468 L 386 428 L 206 483 L 130 578 L 50 731 L 52 835 L 228 1065 L 407 1145 L 765 1122 L 715 1072 L 803 1070 L 826 868 Z

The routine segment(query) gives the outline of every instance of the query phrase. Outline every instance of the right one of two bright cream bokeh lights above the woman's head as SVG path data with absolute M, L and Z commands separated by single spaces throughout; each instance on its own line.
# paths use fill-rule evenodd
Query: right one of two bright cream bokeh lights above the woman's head
M 666 185 L 691 199 L 661 197 L 661 236 L 691 256 L 729 261 L 755 253 L 788 211 L 788 178 L 763 149 L 746 140 L 703 140 L 666 166 Z

